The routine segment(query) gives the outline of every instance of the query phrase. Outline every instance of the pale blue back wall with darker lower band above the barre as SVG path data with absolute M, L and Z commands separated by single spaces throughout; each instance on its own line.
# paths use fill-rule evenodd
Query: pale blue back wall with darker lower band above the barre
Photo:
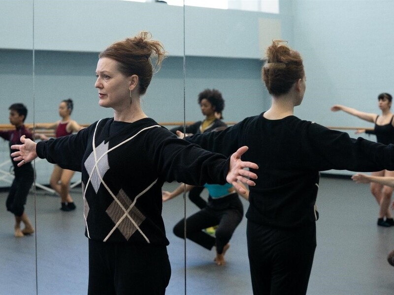
M 58 105 L 68 97 L 74 100 L 72 118 L 80 123 L 111 117 L 111 110 L 98 106 L 94 89 L 98 53 L 140 30 L 151 31 L 169 54 L 143 97 L 148 116 L 182 121 L 185 110 L 186 120 L 201 119 L 197 94 L 215 88 L 226 100 L 225 120 L 239 121 L 269 105 L 260 77 L 264 44 L 291 39 L 290 30 L 283 29 L 290 28 L 285 15 L 189 6 L 184 12 L 162 3 L 116 0 L 2 5 L 0 123 L 8 122 L 7 106 L 16 101 L 27 105 L 27 122 L 56 121 Z M 47 183 L 50 173 L 51 165 L 37 164 L 38 182 Z

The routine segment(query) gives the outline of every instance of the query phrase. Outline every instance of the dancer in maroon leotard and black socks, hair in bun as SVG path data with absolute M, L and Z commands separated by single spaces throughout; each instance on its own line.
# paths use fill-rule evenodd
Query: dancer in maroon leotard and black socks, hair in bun
M 72 120 L 71 113 L 73 110 L 73 102 L 71 98 L 62 100 L 59 105 L 59 116 L 62 118 L 61 120 L 55 123 L 43 123 L 36 124 L 35 128 L 45 128 L 45 129 L 53 129 L 55 130 L 55 137 L 59 138 L 62 136 L 70 135 L 74 132 L 78 132 L 83 129 L 81 125 L 79 125 L 75 120 Z M 39 138 L 41 140 L 48 140 L 48 137 L 44 134 L 39 134 Z M 61 199 L 61 207 L 62 211 L 72 211 L 76 208 L 74 204 L 74 200 L 70 195 L 70 181 L 74 176 L 74 171 L 63 169 L 59 165 L 55 164 L 53 168 L 53 172 L 50 178 L 51 187 L 59 194 Z

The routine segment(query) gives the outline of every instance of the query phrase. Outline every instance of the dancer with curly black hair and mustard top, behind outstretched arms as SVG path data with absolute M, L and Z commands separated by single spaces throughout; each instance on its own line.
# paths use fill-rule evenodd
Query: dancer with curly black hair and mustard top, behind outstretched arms
M 220 91 L 216 89 L 205 89 L 198 94 L 197 101 L 200 105 L 201 113 L 205 116 L 205 119 L 186 126 L 186 134 L 193 135 L 197 133 L 205 133 L 217 130 L 217 128 L 227 127 L 227 124 L 222 121 L 222 112 L 225 108 L 225 101 Z M 170 131 L 176 133 L 178 130 L 183 132 L 183 126 L 172 128 Z M 200 196 L 203 189 L 203 187 L 195 186 L 189 192 L 190 201 L 196 204 L 196 206 L 200 209 L 206 207 L 207 205 L 207 202 Z

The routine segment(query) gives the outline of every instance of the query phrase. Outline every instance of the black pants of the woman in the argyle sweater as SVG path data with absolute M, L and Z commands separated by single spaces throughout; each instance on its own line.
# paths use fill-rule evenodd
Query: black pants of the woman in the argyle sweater
M 164 295 L 170 276 L 165 246 L 89 239 L 88 295 Z

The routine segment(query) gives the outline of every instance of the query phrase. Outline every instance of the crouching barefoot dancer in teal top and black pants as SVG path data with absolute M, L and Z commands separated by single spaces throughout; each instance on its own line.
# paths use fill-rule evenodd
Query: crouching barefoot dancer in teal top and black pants
M 163 202 L 183 193 L 184 186 L 185 184 L 181 184 L 172 192 L 163 191 Z M 225 254 L 230 248 L 230 238 L 242 220 L 243 206 L 235 188 L 229 183 L 225 185 L 206 183 L 204 187 L 209 192 L 207 206 L 186 219 L 186 237 L 208 250 L 215 246 L 214 261 L 218 266 L 222 266 L 226 264 Z M 192 188 L 192 185 L 186 184 L 186 191 Z M 246 200 L 249 198 L 248 191 L 240 195 Z M 182 219 L 174 226 L 175 236 L 185 238 L 184 224 L 185 220 Z M 215 236 L 203 231 L 216 225 Z

